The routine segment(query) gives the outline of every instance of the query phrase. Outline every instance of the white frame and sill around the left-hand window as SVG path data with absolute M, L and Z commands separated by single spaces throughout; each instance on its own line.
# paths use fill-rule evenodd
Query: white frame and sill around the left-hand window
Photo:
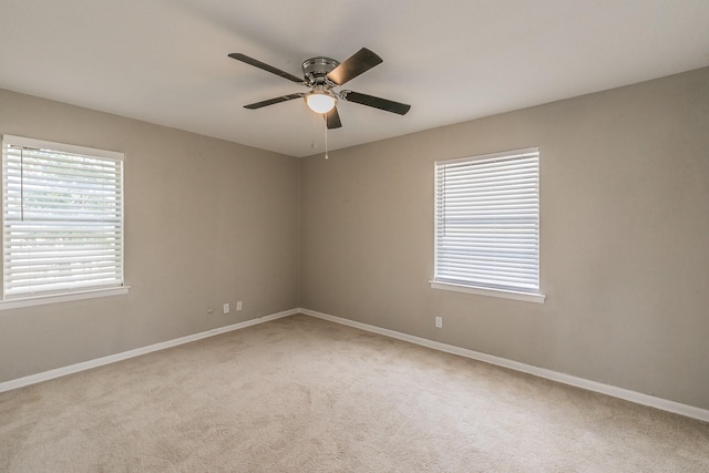
M 65 143 L 56 143 L 44 140 L 37 138 L 28 138 L 22 136 L 14 136 L 4 134 L 0 136 L 0 142 L 2 145 L 2 199 L 4 199 L 6 193 L 9 192 L 6 189 L 7 186 L 7 177 L 4 175 L 4 163 L 6 163 L 6 146 L 19 146 L 31 150 L 41 150 L 41 151 L 50 151 L 55 152 L 58 154 L 64 155 L 79 155 L 83 157 L 88 157 L 91 160 L 100 160 L 100 161 L 111 161 L 113 163 L 120 163 L 119 171 L 116 172 L 117 179 L 120 181 L 120 191 L 119 191 L 119 199 L 120 203 L 117 205 L 120 209 L 120 247 L 119 247 L 119 263 L 116 264 L 116 268 L 120 271 L 120 276 L 116 278 L 119 282 L 112 284 L 96 284 L 96 285 L 85 285 L 88 280 L 80 280 L 76 286 L 61 288 L 58 290 L 38 290 L 25 294 L 18 295 L 6 295 L 6 269 L 4 269 L 4 260 L 6 260 L 6 249 L 4 249 L 4 237 L 6 237 L 6 203 L 2 200 L 2 216 L 0 220 L 2 223 L 2 234 L 0 235 L 0 243 L 3 245 L 3 269 L 0 273 L 0 277 L 2 280 L 1 289 L 0 289 L 0 310 L 4 309 L 14 309 L 21 307 L 29 306 L 38 306 L 45 304 L 54 304 L 54 302 L 63 302 L 69 300 L 79 300 L 79 299 L 89 299 L 89 298 L 97 298 L 105 296 L 116 296 L 124 295 L 129 292 L 130 286 L 125 284 L 125 199 L 124 199 L 124 181 L 125 181 L 125 154 L 114 151 L 99 150 L 86 146 L 78 146 Z M 44 189 L 42 189 L 44 192 Z M 71 222 L 71 220 L 69 220 Z M 53 224 L 54 225 L 54 224 Z M 56 225 L 54 225 L 56 226 Z

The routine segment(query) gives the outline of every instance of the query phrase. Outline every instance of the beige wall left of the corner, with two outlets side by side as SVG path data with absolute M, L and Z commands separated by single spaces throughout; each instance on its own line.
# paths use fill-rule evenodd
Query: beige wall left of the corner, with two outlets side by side
M 0 382 L 298 307 L 298 160 L 7 91 L 1 133 L 125 153 L 132 289 L 0 311 Z

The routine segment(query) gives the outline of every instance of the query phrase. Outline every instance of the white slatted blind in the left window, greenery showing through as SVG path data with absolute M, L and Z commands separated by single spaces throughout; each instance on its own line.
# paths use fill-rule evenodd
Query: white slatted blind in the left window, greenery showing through
M 3 298 L 123 285 L 123 154 L 2 138 Z

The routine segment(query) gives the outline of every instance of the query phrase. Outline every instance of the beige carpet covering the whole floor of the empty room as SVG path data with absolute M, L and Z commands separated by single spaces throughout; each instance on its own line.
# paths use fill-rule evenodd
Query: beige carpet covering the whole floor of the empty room
M 295 316 L 0 394 L 3 472 L 708 472 L 709 424 Z

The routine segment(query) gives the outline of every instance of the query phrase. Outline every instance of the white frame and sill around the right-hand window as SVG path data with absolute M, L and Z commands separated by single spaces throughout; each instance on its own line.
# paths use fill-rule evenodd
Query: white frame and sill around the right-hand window
M 440 172 L 444 172 L 444 169 L 442 168 L 442 166 L 446 166 L 446 165 L 471 165 L 474 166 L 474 163 L 479 162 L 480 164 L 487 164 L 487 163 L 495 163 L 499 161 L 507 161 L 507 160 L 514 160 L 516 157 L 516 162 L 521 162 L 522 160 L 525 158 L 525 156 L 527 157 L 532 157 L 532 158 L 536 158 L 536 167 L 533 172 L 527 174 L 531 174 L 535 177 L 535 182 L 534 182 L 534 186 L 535 186 L 535 191 L 536 191 L 536 208 L 535 212 L 531 212 L 530 214 L 534 214 L 536 215 L 536 287 L 534 288 L 524 288 L 522 287 L 522 285 L 520 286 L 514 286 L 514 285 L 501 285 L 501 284 L 485 284 L 485 282 L 481 282 L 480 280 L 475 281 L 473 279 L 465 279 L 465 278 L 461 278 L 461 279 L 456 279 L 453 277 L 450 277 L 450 275 L 441 275 L 441 266 L 439 264 L 440 259 L 440 255 L 439 251 L 441 249 L 441 241 L 440 239 L 440 234 L 441 234 L 441 218 L 439 215 L 439 205 L 441 205 L 440 203 L 440 198 L 441 195 L 443 195 L 443 198 L 445 197 L 444 194 L 444 188 L 441 189 L 441 181 L 439 178 L 439 173 Z M 440 171 L 441 169 L 441 171 Z M 433 246 L 433 251 L 434 251 L 434 257 L 433 257 L 433 278 L 429 281 L 431 285 L 431 288 L 433 289 L 443 289 L 443 290 L 452 290 L 452 291 L 460 291 L 460 292 L 467 292 L 467 294 L 475 294 L 475 295 L 483 295 L 483 296 L 492 296 L 492 297 L 501 297 L 501 298 L 507 298 L 507 299 L 515 299 L 515 300 L 524 300 L 524 301 L 532 301 L 532 302 L 540 302 L 543 304 L 545 300 L 545 295 L 541 292 L 541 234 L 540 234 L 540 222 L 541 222 L 541 188 L 540 188 L 540 174 L 541 174 L 541 154 L 540 154 L 540 148 L 538 147 L 528 147 L 528 148 L 521 148 L 521 150 L 511 150 L 511 151 L 505 151 L 505 152 L 499 152 L 499 153 L 489 153 L 489 154 L 482 154 L 482 155 L 473 155 L 473 156 L 466 156 L 466 157 L 459 157 L 459 158 L 448 158 L 448 160 L 440 160 L 436 161 L 434 163 L 434 173 L 433 173 L 433 181 L 434 181 L 434 216 L 433 216 L 433 239 L 434 239 L 434 246 Z M 477 173 L 477 171 L 472 171 L 470 172 L 470 174 L 473 173 Z M 471 176 L 467 176 L 471 177 Z M 505 195 L 504 198 L 507 199 L 510 196 Z M 521 197 L 520 197 L 521 198 Z M 497 204 L 497 203 L 494 203 Z M 469 234 L 469 236 L 474 236 L 475 232 L 471 232 L 471 234 Z M 449 248 L 450 249 L 450 248 Z M 465 260 L 463 259 L 462 261 L 465 261 L 467 264 L 470 264 L 470 260 Z M 530 281 L 525 281 L 526 285 L 528 285 Z

